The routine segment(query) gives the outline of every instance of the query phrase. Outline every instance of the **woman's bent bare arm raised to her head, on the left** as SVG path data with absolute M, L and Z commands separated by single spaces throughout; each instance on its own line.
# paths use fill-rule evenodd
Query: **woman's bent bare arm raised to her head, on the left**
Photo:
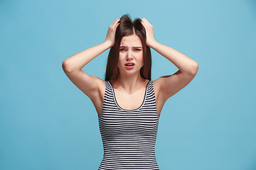
M 110 25 L 107 31 L 107 38 L 104 42 L 72 55 L 64 60 L 62 64 L 63 70 L 70 81 L 72 81 L 85 95 L 92 99 L 92 102 L 100 100 L 99 89 L 100 86 L 105 86 L 105 81 L 98 77 L 86 74 L 82 71 L 82 67 L 85 67 L 87 63 L 114 45 L 114 35 L 116 28 L 119 25 L 118 22 L 119 18 L 115 19 Z

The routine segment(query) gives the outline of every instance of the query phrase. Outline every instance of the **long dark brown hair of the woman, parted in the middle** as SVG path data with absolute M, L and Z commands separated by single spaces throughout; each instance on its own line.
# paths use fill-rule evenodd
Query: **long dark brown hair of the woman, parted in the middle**
M 117 62 L 119 59 L 120 43 L 124 36 L 133 34 L 138 35 L 140 40 L 142 40 L 144 66 L 140 69 L 141 77 L 151 80 L 151 51 L 150 47 L 146 45 L 146 30 L 141 23 L 141 19 L 135 18 L 132 22 L 132 18 L 127 13 L 120 18 L 119 22 L 114 37 L 114 46 L 110 48 L 107 58 L 105 81 L 117 79 L 119 76 Z

